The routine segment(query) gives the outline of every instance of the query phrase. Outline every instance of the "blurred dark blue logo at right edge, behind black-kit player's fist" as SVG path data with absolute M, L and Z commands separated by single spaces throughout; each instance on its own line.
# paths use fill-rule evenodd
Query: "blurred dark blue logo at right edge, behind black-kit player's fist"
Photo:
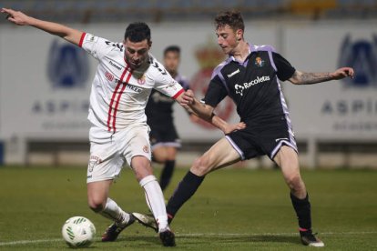
M 346 35 L 339 54 L 339 65 L 355 70 L 353 78 L 341 80 L 345 82 L 344 86 L 377 88 L 377 35 L 373 35 L 372 41 L 364 38 L 352 41 L 351 35 Z

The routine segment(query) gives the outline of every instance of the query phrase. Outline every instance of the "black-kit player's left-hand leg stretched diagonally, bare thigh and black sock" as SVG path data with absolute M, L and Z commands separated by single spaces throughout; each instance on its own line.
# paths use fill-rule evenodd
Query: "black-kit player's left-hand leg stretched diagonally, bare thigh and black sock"
M 168 200 L 167 212 L 169 222 L 176 216 L 179 208 L 195 194 L 204 176 L 209 172 L 223 166 L 229 166 L 239 161 L 239 153 L 224 137 L 200 156 L 191 166 L 189 172 L 183 177 L 173 196 Z

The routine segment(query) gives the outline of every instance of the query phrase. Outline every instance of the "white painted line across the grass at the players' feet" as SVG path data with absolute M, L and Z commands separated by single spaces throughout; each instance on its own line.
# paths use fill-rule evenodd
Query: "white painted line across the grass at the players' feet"
M 321 236 L 342 236 L 342 235 L 375 235 L 377 232 L 323 232 Z M 250 233 L 250 234 L 236 234 L 236 233 L 192 233 L 192 234 L 177 234 L 178 237 L 191 237 L 191 236 L 298 236 L 298 233 Z M 96 238 L 99 240 L 100 238 Z M 10 242 L 0 242 L 0 246 L 17 246 L 26 244 L 38 243 L 53 243 L 64 242 L 62 238 L 56 239 L 41 239 L 41 240 L 18 240 Z

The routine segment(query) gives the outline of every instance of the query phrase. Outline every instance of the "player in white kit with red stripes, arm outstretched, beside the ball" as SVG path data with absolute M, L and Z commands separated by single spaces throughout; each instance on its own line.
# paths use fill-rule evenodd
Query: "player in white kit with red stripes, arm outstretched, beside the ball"
M 150 165 L 145 107 L 152 88 L 173 97 L 181 105 L 184 90 L 148 53 L 152 45 L 148 25 L 128 25 L 123 43 L 113 43 L 12 9 L 3 8 L 1 12 L 15 25 L 30 25 L 61 36 L 82 47 L 99 63 L 92 84 L 88 115 L 91 128 L 87 199 L 93 211 L 114 221 L 102 236 L 102 241 L 116 240 L 118 234 L 135 220 L 143 224 L 141 215 L 126 213 L 108 197 L 113 180 L 127 162 L 140 186 L 145 189 L 162 244 L 175 246 L 162 191 Z

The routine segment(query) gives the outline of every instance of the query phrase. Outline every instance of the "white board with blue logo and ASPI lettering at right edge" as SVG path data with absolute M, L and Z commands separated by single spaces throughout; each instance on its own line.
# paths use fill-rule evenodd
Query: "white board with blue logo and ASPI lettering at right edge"
M 356 73 L 318 85 L 284 85 L 297 136 L 377 140 L 377 26 L 289 26 L 284 37 L 285 56 L 298 70 L 352 66 Z

